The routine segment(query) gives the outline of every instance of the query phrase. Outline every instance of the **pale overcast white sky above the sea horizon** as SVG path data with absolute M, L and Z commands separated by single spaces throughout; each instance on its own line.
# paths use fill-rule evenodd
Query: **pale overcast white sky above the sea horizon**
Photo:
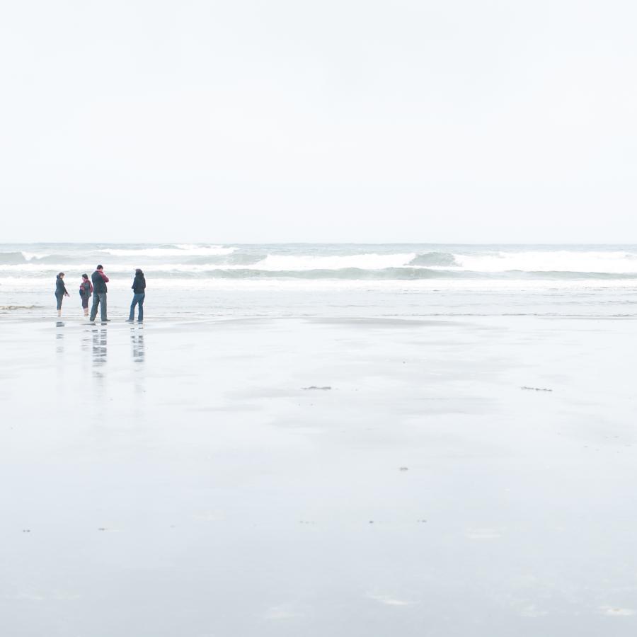
M 637 241 L 630 1 L 0 8 L 0 242 Z

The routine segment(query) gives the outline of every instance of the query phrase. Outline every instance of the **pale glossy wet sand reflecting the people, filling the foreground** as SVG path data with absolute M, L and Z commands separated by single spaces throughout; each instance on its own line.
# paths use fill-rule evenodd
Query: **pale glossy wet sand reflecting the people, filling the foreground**
M 3 635 L 637 629 L 634 321 L 0 326 Z

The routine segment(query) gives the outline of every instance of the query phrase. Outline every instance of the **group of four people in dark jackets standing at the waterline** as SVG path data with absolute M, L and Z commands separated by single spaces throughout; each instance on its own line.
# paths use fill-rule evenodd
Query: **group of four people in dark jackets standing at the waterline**
M 100 308 L 100 316 L 102 323 L 106 323 L 109 319 L 106 316 L 106 292 L 108 291 L 106 284 L 108 283 L 108 277 L 104 274 L 104 268 L 98 265 L 95 272 L 88 278 L 87 274 L 82 275 L 82 282 L 79 287 L 79 295 L 82 300 L 82 307 L 84 308 L 84 316 L 88 316 L 88 300 L 93 297 L 93 305 L 91 306 L 91 316 L 89 321 L 95 321 Z M 142 323 L 144 321 L 144 298 L 146 297 L 146 279 L 144 278 L 144 272 L 142 270 L 135 270 L 135 277 L 133 279 L 133 285 L 131 286 L 133 291 L 133 298 L 130 304 L 130 316 L 129 321 L 134 321 L 135 307 L 137 306 L 137 321 Z M 57 316 L 62 316 L 62 299 L 69 297 L 67 287 L 64 285 L 64 272 L 59 272 L 57 279 L 55 280 L 55 298 L 57 299 Z

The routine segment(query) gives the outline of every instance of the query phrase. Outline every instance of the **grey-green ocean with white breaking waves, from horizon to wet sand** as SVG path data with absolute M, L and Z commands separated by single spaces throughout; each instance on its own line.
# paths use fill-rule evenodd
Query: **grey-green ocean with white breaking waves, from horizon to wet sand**
M 635 316 L 637 246 L 212 243 L 0 244 L 0 312 L 54 313 L 57 272 L 81 314 L 101 263 L 111 316 L 147 277 L 147 319 L 251 316 Z

